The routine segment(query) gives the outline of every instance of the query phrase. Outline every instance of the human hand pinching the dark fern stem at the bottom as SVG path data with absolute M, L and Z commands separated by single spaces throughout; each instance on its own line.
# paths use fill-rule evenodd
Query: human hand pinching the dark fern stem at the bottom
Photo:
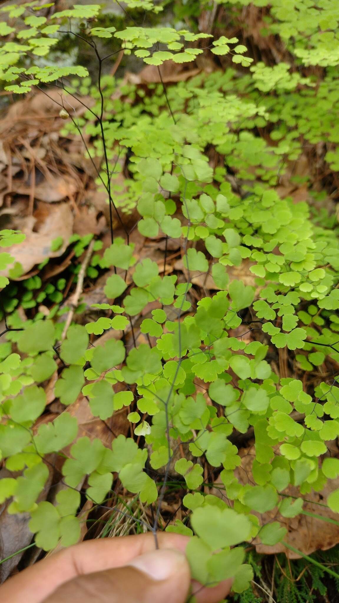
M 188 538 L 153 534 L 88 540 L 47 557 L 0 587 L 4 603 L 218 603 L 232 580 L 203 587 L 191 581 Z

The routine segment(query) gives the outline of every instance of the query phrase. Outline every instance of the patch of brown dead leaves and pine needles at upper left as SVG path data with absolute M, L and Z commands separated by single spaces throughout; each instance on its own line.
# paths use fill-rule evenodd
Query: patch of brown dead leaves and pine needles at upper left
M 0 223 L 26 235 L 24 242 L 8 248 L 22 265 L 17 280 L 32 276 L 30 271 L 43 260 L 62 256 L 73 233 L 107 230 L 107 195 L 94 183 L 100 160 L 93 166 L 84 149 L 89 137 L 60 134 L 60 107 L 78 118 L 90 103 L 90 98 L 65 98 L 48 89 L 12 104 L 0 120 Z M 59 237 L 62 245 L 51 251 Z

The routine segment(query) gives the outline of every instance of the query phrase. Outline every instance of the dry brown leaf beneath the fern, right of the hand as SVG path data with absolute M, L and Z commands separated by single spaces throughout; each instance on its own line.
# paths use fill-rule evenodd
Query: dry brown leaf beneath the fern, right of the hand
M 337 456 L 338 452 L 337 449 Z M 252 476 L 252 463 L 255 459 L 255 447 L 250 446 L 240 449 L 239 456 L 241 456 L 241 465 L 235 470 L 236 478 L 242 485 L 256 485 Z M 215 483 L 220 484 L 220 479 Z M 305 499 L 303 510 L 308 513 L 338 521 L 337 513 L 333 513 L 328 507 L 322 506 L 326 504 L 326 499 L 329 494 L 338 488 L 339 478 L 329 479 L 322 491 L 314 492 L 312 490 L 309 494 L 305 494 L 305 496 L 303 496 Z M 222 495 L 218 488 L 215 488 L 212 493 L 216 496 Z M 287 496 L 299 497 L 300 491 L 296 486 L 290 485 L 284 490 L 284 494 L 287 494 Z M 334 523 L 328 523 L 325 520 L 315 519 L 314 517 L 308 517 L 306 515 L 300 515 L 293 518 L 282 517 L 276 508 L 272 511 L 267 511 L 266 513 L 256 513 L 253 511 L 253 514 L 258 517 L 260 525 L 279 521 L 281 525 L 284 525 L 287 528 L 287 535 L 284 540 L 294 548 L 299 549 L 299 551 L 305 555 L 310 555 L 314 551 L 327 551 L 327 549 L 331 549 L 332 546 L 339 543 L 339 525 L 337 526 Z M 290 551 L 290 549 L 287 549 L 281 543 L 277 543 L 277 545 L 274 546 L 262 545 L 260 543 L 260 538 L 254 538 L 252 543 L 256 546 L 256 551 L 258 553 L 275 554 L 284 552 L 290 559 L 300 558 L 300 555 Z

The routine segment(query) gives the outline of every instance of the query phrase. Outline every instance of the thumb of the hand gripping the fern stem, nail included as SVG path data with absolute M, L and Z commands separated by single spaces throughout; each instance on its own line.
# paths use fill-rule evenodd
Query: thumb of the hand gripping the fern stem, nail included
M 185 603 L 190 582 L 185 555 L 162 549 L 136 557 L 128 566 L 77 576 L 44 603 Z

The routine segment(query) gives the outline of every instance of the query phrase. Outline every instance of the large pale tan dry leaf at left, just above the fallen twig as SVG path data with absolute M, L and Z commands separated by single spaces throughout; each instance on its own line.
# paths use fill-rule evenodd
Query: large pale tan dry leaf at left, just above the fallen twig
M 20 227 L 26 235 L 25 241 L 6 249 L 14 257 L 15 262 L 20 262 L 23 274 L 48 257 L 61 256 L 73 232 L 73 216 L 68 203 L 48 206 L 48 214 L 39 224 L 37 232 L 33 231 L 35 222 L 36 219 L 27 218 Z M 59 236 L 63 238 L 62 247 L 58 251 L 51 251 L 51 242 Z M 12 265 L 1 271 L 1 274 L 7 276 Z

